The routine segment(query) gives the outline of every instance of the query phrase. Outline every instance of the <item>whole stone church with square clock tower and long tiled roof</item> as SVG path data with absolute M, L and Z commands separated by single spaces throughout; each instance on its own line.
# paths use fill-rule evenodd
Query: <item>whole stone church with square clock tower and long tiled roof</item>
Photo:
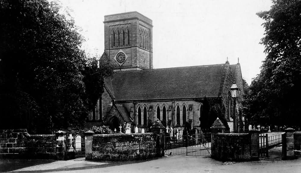
M 153 69 L 152 31 L 152 20 L 136 11 L 104 16 L 105 50 L 100 60 L 108 60 L 114 74 L 105 79 L 104 93 L 86 126 L 109 125 L 117 131 L 130 127 L 132 133 L 138 127 L 140 133 L 160 119 L 168 127 L 184 129 L 190 123 L 192 128 L 207 131 L 218 117 L 228 131 L 243 128 L 240 64 L 227 60 Z M 236 104 L 230 93 L 233 82 L 240 93 Z

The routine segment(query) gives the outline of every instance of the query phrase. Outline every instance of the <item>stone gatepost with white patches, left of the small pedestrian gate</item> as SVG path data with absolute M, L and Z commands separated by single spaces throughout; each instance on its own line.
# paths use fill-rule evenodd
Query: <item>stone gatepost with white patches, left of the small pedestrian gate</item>
M 56 159 L 65 160 L 67 159 L 67 147 L 65 144 L 66 132 L 65 131 L 57 131 L 55 133 L 57 146 L 56 146 Z

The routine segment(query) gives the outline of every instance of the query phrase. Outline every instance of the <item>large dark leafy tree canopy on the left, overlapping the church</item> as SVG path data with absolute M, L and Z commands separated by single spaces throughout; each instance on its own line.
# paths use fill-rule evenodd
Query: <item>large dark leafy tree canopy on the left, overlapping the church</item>
M 77 126 L 102 92 L 108 63 L 97 68 L 80 49 L 73 20 L 47 0 L 0 0 L 0 105 L 2 128 L 32 132 Z M 93 76 L 93 77 L 91 77 Z M 102 82 L 101 82 L 102 81 Z M 88 87 L 88 88 L 87 88 Z

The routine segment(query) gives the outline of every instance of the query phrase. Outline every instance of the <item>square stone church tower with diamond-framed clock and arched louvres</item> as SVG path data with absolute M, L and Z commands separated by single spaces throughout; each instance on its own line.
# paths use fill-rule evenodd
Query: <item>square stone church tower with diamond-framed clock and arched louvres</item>
M 104 16 L 104 49 L 114 71 L 153 69 L 152 20 L 136 11 Z

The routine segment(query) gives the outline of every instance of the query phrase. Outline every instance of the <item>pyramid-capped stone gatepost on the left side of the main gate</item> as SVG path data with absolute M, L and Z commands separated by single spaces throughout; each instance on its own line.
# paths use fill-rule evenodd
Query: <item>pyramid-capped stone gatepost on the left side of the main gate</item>
M 165 127 L 160 122 L 159 119 L 157 119 L 154 124 L 151 126 L 151 132 L 157 134 L 156 139 L 156 150 L 157 150 L 157 157 L 164 156 L 164 131 Z

